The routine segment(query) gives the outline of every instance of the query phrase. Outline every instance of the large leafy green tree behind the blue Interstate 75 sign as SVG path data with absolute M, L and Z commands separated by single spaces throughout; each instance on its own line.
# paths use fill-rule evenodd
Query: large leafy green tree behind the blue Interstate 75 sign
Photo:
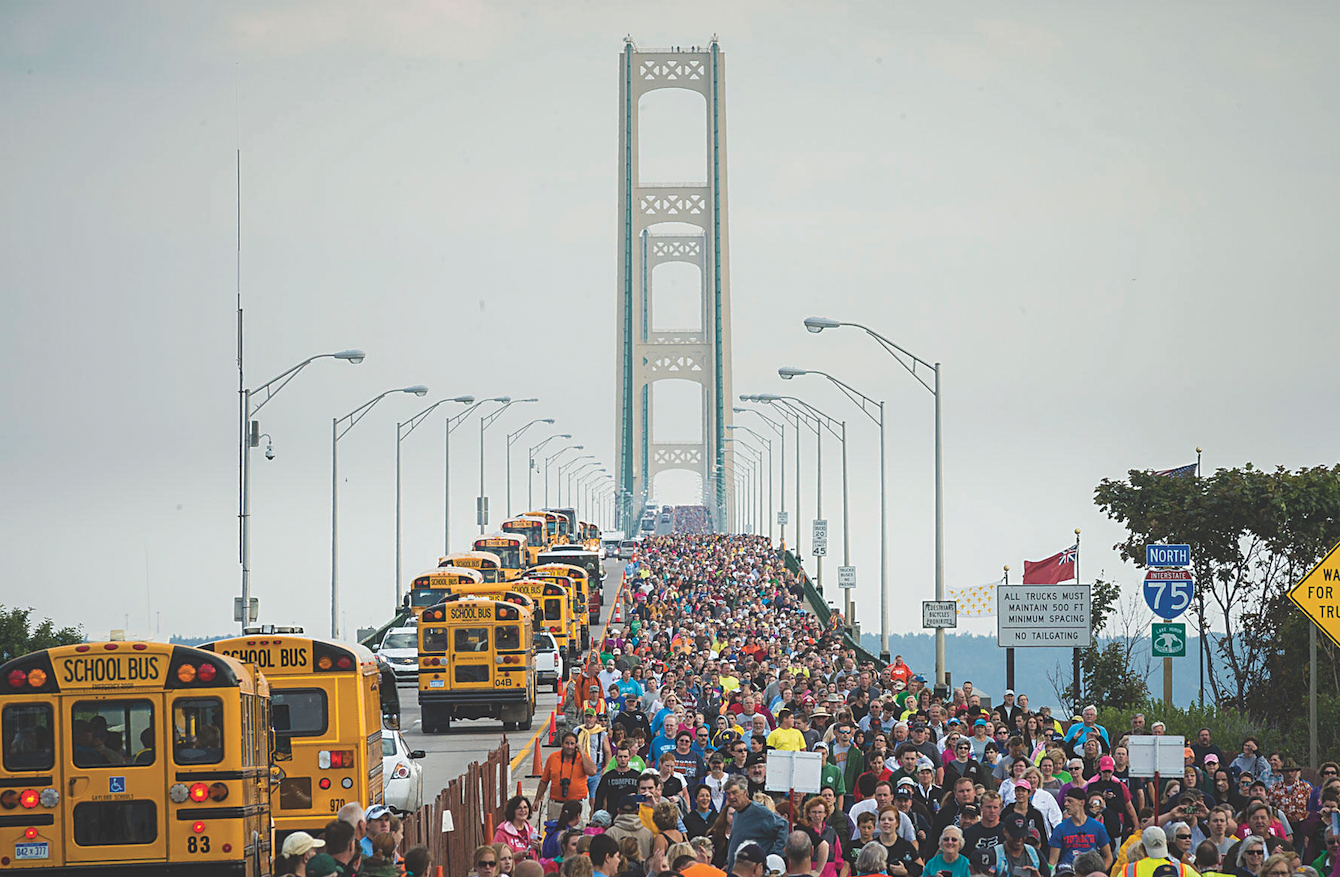
M 1305 697 L 1311 622 L 1286 593 L 1340 540 L 1340 465 L 1128 475 L 1093 489 L 1099 508 L 1127 530 L 1115 547 L 1143 566 L 1151 542 L 1191 546 L 1193 621 L 1202 648 L 1214 648 L 1226 665 L 1205 661 L 1215 701 L 1288 724 Z M 1321 646 L 1332 691 L 1336 658 L 1331 644 Z

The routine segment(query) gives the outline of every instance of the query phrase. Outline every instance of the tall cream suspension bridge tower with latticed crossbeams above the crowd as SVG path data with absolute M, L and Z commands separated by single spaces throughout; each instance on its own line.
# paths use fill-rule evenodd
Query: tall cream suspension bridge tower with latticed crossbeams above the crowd
M 624 531 L 636 528 L 651 480 L 667 469 L 702 479 L 702 502 L 717 530 L 733 528 L 733 453 L 724 441 L 732 422 L 730 251 L 726 235 L 725 55 L 708 46 L 639 50 L 624 40 L 619 56 L 619 271 L 615 420 L 619 424 L 618 489 Z M 687 89 L 705 98 L 706 180 L 643 184 L 638 176 L 638 109 L 658 89 Z M 674 223 L 693 225 L 661 229 Z M 694 331 L 657 331 L 654 268 L 683 261 L 698 268 L 701 307 Z M 702 434 L 695 441 L 655 441 L 653 402 L 658 381 L 702 388 Z

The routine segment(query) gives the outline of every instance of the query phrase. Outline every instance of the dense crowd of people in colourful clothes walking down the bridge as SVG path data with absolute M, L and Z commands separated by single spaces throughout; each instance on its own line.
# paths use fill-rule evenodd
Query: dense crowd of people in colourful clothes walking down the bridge
M 631 611 L 567 681 L 533 801 L 507 803 L 477 877 L 1340 877 L 1340 767 L 1313 787 L 1254 738 L 1202 729 L 1181 776 L 1131 776 L 1127 740 L 970 681 L 876 669 L 807 611 L 765 538 L 646 539 Z M 769 782 L 811 752 L 819 791 Z M 789 758 L 787 760 L 791 760 Z M 775 778 L 776 779 L 776 778 Z

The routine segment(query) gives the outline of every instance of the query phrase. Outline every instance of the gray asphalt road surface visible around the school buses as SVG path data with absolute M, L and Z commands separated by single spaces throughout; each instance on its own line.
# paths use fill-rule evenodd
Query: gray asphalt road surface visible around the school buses
M 591 638 L 596 640 L 599 632 L 604 629 L 614 606 L 614 594 L 619 589 L 619 579 L 623 573 L 623 561 L 606 561 L 604 578 L 604 607 L 602 609 L 602 625 L 591 630 Z M 503 723 L 492 719 L 457 720 L 452 723 L 449 731 L 440 734 L 423 734 L 419 721 L 418 697 L 415 691 L 401 687 L 401 732 L 405 742 L 414 750 L 423 750 L 427 755 L 419 763 L 423 766 L 423 802 L 431 801 L 440 788 L 465 772 L 472 762 L 480 762 L 490 751 L 497 748 L 503 739 Z M 557 705 L 557 695 L 549 693 L 548 688 L 540 689 L 535 708 L 535 727 L 531 731 L 515 731 L 508 736 L 513 759 L 529 743 L 532 735 L 541 728 L 548 728 L 549 712 Z M 545 752 L 548 755 L 548 752 Z M 523 779 L 525 787 L 533 791 L 536 780 L 525 780 L 525 774 L 531 767 L 532 754 L 517 763 L 512 782 Z M 511 783 L 509 783 L 511 786 Z

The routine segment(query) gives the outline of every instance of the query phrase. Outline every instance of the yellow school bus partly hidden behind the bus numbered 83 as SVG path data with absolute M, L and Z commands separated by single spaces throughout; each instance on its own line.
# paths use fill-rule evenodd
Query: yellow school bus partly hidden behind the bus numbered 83
M 247 633 L 200 648 L 269 680 L 284 774 L 271 795 L 276 845 L 293 831 L 322 831 L 350 801 L 382 803 L 381 672 L 370 650 L 300 633 Z

